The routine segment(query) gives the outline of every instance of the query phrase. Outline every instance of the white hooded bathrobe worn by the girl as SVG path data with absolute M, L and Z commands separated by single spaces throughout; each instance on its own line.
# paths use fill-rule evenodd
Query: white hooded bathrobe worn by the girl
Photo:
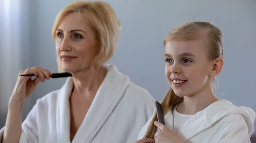
M 193 115 L 177 134 L 185 143 L 250 143 L 255 115 L 253 109 L 236 107 L 230 101 L 218 100 Z M 143 126 L 138 140 L 144 137 L 152 117 Z M 173 129 L 172 119 L 170 110 L 165 115 L 169 129 Z

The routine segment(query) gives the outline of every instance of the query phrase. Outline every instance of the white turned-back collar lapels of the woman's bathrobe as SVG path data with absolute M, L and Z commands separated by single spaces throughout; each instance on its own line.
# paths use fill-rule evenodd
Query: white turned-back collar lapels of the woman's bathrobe
M 95 98 L 84 117 L 72 143 L 90 143 L 99 129 L 108 120 L 129 85 L 128 76 L 120 73 L 114 65 L 107 65 L 107 74 L 96 93 Z M 69 97 L 73 80 L 69 78 L 61 88 L 57 105 L 57 132 L 61 143 L 70 143 L 70 107 Z M 110 126 L 111 128 L 111 126 Z M 69 140 L 69 142 L 67 141 Z

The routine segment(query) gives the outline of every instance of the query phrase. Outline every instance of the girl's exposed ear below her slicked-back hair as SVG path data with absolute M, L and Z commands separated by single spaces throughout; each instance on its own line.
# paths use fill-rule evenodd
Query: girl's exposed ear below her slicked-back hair
M 211 77 L 218 76 L 218 74 L 221 73 L 223 65 L 224 65 L 224 60 L 221 57 L 215 59 L 212 63 L 212 68 L 210 70 L 209 76 Z

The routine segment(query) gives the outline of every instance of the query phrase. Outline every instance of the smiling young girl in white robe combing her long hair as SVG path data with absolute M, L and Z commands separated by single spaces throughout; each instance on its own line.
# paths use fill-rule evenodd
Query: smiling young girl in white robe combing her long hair
M 154 113 L 136 143 L 250 143 L 253 109 L 218 100 L 212 90 L 224 64 L 219 28 L 187 22 L 166 36 L 164 47 L 170 85 L 161 102 L 166 126 Z

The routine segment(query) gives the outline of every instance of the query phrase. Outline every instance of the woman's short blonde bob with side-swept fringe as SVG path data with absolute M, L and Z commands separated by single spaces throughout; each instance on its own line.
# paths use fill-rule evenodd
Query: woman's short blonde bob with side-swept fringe
M 52 37 L 56 40 L 56 29 L 67 14 L 77 12 L 89 20 L 100 42 L 99 54 L 93 59 L 92 65 L 107 62 L 115 52 L 119 40 L 121 23 L 111 6 L 102 1 L 75 1 L 61 9 L 52 27 Z M 57 57 L 58 71 L 61 72 L 60 59 Z

